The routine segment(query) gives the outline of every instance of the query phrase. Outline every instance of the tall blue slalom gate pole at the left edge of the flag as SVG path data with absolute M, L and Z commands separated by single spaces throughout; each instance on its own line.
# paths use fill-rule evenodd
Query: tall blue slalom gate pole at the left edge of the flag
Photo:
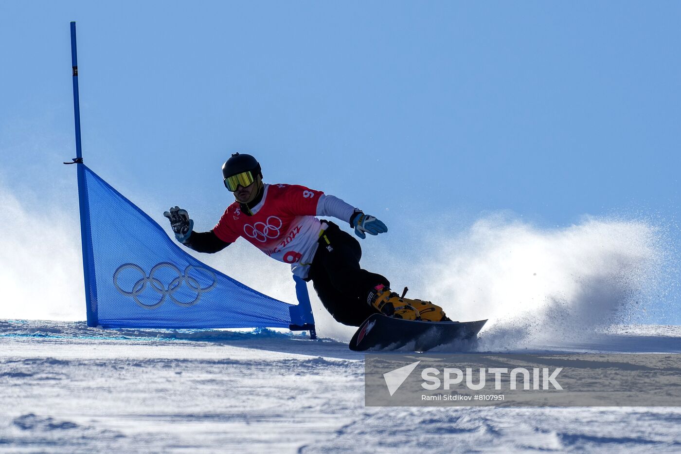
M 78 98 L 78 51 L 76 49 L 76 22 L 71 22 L 71 66 L 74 81 L 74 122 L 76 124 L 76 158 L 74 162 L 78 166 L 78 205 L 80 207 L 80 241 L 83 252 L 83 276 L 85 279 L 85 302 L 87 305 L 87 324 L 96 327 L 97 321 L 97 288 L 95 287 L 95 275 L 92 237 L 90 230 L 90 205 L 87 197 L 87 185 L 85 181 L 85 168 L 82 158 L 82 145 L 80 142 L 80 100 Z M 66 163 L 65 163 L 66 164 Z

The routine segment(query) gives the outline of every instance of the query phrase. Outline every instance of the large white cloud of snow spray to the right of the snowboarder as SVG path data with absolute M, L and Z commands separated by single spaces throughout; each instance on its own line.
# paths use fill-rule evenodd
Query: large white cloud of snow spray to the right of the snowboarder
M 665 280 L 664 236 L 636 220 L 586 218 L 545 229 L 485 217 L 440 242 L 425 273 L 436 285 L 424 296 L 448 295 L 443 307 L 457 320 L 489 318 L 482 348 L 581 339 L 645 322 Z

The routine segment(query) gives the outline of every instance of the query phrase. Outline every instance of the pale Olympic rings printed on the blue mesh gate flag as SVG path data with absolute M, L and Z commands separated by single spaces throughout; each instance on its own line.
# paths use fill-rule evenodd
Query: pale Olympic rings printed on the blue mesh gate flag
M 168 268 L 177 273 L 177 277 L 175 277 L 170 282 L 170 284 L 168 284 L 168 288 L 165 288 L 163 283 L 159 279 L 154 277 L 155 273 L 157 273 L 157 271 L 159 271 L 159 269 L 162 268 Z M 118 285 L 119 275 L 121 274 L 122 271 L 125 271 L 127 269 L 139 271 L 140 275 L 142 275 L 138 282 L 136 282 L 132 286 L 132 289 L 129 292 L 127 290 L 123 290 Z M 207 287 L 202 287 L 201 284 L 199 284 L 199 282 L 197 281 L 197 279 L 189 275 L 190 271 L 192 270 L 202 271 L 206 273 L 206 277 L 210 276 L 209 278 L 212 278 L 212 284 L 210 284 Z M 192 301 L 189 301 L 188 303 L 178 301 L 177 299 L 175 299 L 175 297 L 173 297 L 173 294 L 178 290 L 178 288 L 183 284 L 183 282 L 187 284 L 187 287 L 191 288 L 191 290 L 196 292 L 196 298 L 193 299 Z M 150 286 L 150 288 L 152 288 L 159 294 L 159 296 L 161 297 L 159 301 L 151 304 L 142 303 L 142 301 L 140 301 L 138 297 L 144 291 L 147 284 Z M 163 301 L 165 301 L 166 298 L 170 298 L 170 300 L 178 306 L 191 307 L 200 301 L 202 294 L 209 292 L 210 290 L 215 288 L 216 285 L 217 276 L 215 275 L 215 273 L 210 271 L 210 269 L 188 265 L 187 268 L 185 268 L 185 273 L 182 273 L 182 271 L 180 271 L 180 269 L 175 264 L 172 264 L 170 262 L 161 262 L 155 264 L 151 271 L 149 271 L 148 276 L 146 275 L 142 267 L 134 263 L 122 264 L 120 267 L 118 267 L 118 269 L 116 269 L 116 272 L 114 273 L 114 286 L 116 286 L 116 290 L 118 290 L 118 292 L 121 292 L 121 294 L 124 294 L 126 297 L 131 297 L 140 307 L 144 307 L 144 309 L 155 309 L 156 307 L 159 307 L 161 304 L 163 304 Z

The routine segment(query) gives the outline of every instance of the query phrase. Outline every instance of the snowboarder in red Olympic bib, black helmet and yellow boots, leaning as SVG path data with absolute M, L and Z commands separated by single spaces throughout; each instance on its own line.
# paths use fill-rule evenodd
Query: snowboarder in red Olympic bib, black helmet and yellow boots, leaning
M 376 217 L 321 191 L 263 183 L 260 164 L 251 155 L 234 153 L 222 174 L 236 201 L 212 230 L 194 232 L 193 220 L 179 207 L 163 213 L 183 245 L 212 254 L 244 237 L 268 256 L 291 264 L 295 275 L 312 281 L 321 303 L 343 324 L 358 327 L 377 312 L 406 320 L 449 321 L 441 307 L 404 298 L 404 293 L 400 297 L 385 277 L 362 269 L 360 243 L 315 216 L 349 222 L 361 239 L 366 233 L 387 232 Z

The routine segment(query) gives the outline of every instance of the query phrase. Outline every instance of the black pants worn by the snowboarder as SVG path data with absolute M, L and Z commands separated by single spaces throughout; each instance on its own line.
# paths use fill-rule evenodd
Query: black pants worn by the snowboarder
M 333 222 L 319 238 L 308 279 L 326 310 L 336 321 L 359 327 L 378 311 L 366 299 L 368 292 L 379 284 L 390 287 L 385 277 L 360 268 L 360 242 L 340 230 Z

